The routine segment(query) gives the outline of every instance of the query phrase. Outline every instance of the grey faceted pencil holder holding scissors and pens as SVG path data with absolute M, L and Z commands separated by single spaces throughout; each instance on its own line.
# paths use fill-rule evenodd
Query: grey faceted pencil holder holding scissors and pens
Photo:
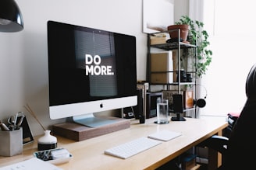
M 23 134 L 22 128 L 19 130 L 4 131 L 0 130 L 0 155 L 13 156 L 22 154 L 23 151 Z

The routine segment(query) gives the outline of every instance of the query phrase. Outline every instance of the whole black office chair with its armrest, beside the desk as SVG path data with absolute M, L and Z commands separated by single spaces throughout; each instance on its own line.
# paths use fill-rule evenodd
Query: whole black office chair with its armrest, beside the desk
M 247 75 L 246 95 L 247 101 L 229 137 L 215 135 L 202 143 L 222 153 L 222 166 L 218 169 L 256 169 L 256 64 Z

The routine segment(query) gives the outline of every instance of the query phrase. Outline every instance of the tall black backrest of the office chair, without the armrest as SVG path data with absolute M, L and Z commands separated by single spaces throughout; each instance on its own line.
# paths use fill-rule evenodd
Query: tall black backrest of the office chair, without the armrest
M 247 101 L 229 137 L 227 169 L 254 169 L 256 153 L 256 64 L 247 75 Z

